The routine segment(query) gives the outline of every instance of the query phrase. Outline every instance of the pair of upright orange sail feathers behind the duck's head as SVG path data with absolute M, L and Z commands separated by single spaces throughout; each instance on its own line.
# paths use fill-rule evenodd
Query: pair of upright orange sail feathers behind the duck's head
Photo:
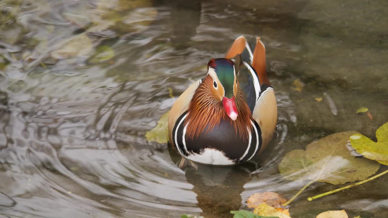
M 260 85 L 263 83 L 270 85 L 267 71 L 265 70 L 265 46 L 260 37 L 250 40 L 247 40 L 244 36 L 236 38 L 226 52 L 225 57 L 234 59 L 238 66 L 243 64 L 243 62 L 248 63 L 255 69 Z

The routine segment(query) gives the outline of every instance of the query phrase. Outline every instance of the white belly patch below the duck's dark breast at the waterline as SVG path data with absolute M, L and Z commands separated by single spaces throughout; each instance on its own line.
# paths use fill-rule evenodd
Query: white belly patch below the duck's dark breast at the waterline
M 235 163 L 226 157 L 222 151 L 218 151 L 212 148 L 205 148 L 201 150 L 199 154 L 192 153 L 186 157 L 187 159 L 203 163 L 203 164 L 212 164 L 212 165 L 234 165 Z

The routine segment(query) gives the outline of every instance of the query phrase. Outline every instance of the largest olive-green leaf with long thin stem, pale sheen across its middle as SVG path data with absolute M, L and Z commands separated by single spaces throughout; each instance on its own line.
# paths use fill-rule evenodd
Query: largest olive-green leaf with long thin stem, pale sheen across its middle
M 288 152 L 283 157 L 279 171 L 288 180 L 310 180 L 293 198 L 282 204 L 288 205 L 304 189 L 314 182 L 334 185 L 364 180 L 376 173 L 380 164 L 365 158 L 350 155 L 346 144 L 355 131 L 334 133 L 306 146 Z

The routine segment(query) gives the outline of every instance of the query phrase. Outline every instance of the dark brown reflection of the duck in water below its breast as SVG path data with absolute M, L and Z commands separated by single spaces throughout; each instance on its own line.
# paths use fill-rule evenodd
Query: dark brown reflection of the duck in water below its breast
M 170 157 L 179 164 L 180 156 L 169 146 Z M 231 210 L 239 210 L 242 205 L 241 193 L 244 185 L 251 180 L 250 173 L 257 170 L 253 161 L 235 166 L 212 166 L 197 164 L 197 169 L 186 166 L 185 177 L 197 194 L 197 206 L 205 218 L 232 217 Z

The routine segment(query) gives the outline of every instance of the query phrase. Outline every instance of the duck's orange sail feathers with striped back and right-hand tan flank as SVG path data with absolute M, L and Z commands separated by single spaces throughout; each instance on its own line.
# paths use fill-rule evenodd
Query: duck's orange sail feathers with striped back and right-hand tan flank
M 277 123 L 275 92 L 265 69 L 265 46 L 260 37 L 247 40 L 240 36 L 230 46 L 225 57 L 237 60 L 239 67 L 237 80 L 253 119 L 262 131 L 264 148 L 272 138 Z

